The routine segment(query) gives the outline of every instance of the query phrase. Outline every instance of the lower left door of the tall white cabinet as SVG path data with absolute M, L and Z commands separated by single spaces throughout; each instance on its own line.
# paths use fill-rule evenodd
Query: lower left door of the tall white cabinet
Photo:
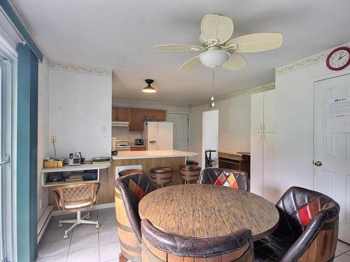
M 264 143 L 262 133 L 251 133 L 251 192 L 262 196 L 262 161 Z

